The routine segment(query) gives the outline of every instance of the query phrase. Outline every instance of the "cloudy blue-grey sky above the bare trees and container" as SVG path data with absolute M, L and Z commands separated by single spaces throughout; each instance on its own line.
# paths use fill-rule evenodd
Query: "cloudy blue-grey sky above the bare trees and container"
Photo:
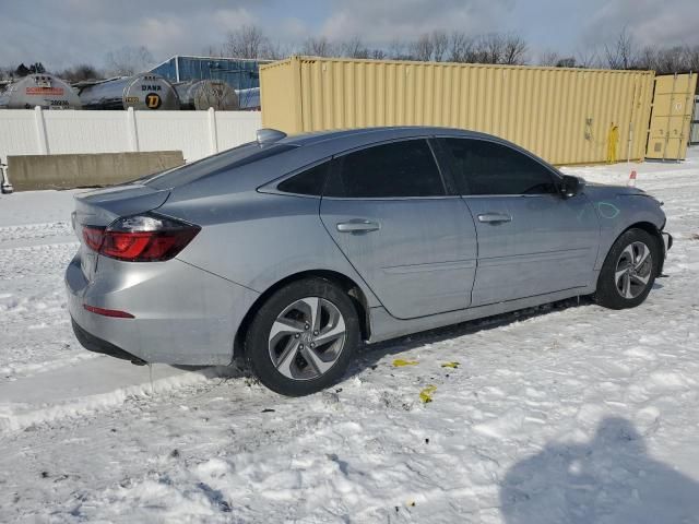
M 639 45 L 698 45 L 699 0 L 0 0 L 0 66 L 102 67 L 141 45 L 162 61 L 217 48 L 244 24 L 288 44 L 359 36 L 379 47 L 434 29 L 514 32 L 535 59 L 603 46 L 625 26 Z

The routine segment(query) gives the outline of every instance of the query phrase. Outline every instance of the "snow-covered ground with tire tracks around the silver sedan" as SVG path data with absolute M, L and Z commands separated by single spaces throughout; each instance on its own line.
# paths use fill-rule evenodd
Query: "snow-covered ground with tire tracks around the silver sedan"
M 641 307 L 573 300 L 368 347 L 306 398 L 83 350 L 71 192 L 0 196 L 0 521 L 698 523 L 699 151 L 566 171 L 630 168 L 675 235 Z

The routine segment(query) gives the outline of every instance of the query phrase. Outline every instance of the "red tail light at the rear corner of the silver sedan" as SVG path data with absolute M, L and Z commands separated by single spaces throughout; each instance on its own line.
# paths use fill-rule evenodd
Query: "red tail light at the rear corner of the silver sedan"
M 99 254 L 128 262 L 159 262 L 177 255 L 201 230 L 156 214 L 126 216 L 107 228 L 85 226 L 85 245 Z

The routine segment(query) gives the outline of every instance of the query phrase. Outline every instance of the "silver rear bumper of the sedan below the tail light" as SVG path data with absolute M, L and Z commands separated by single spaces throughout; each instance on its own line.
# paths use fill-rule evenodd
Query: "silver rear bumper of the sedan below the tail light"
M 259 294 L 177 259 L 120 262 L 99 258 L 88 282 L 80 254 L 66 271 L 75 335 L 90 350 L 176 365 L 227 365 L 234 337 Z M 125 311 L 112 318 L 85 309 Z

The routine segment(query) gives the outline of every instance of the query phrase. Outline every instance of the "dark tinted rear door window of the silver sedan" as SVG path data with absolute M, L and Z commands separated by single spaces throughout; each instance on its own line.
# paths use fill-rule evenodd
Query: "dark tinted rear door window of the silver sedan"
M 426 140 L 391 142 L 335 159 L 324 196 L 441 196 L 445 184 Z

